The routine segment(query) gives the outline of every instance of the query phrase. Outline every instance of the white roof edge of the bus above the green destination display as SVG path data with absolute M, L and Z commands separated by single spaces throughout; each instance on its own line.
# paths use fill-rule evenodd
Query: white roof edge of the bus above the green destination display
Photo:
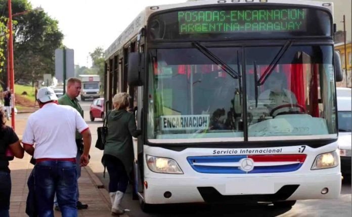
M 113 54 L 119 51 L 128 42 L 133 41 L 137 37 L 138 31 L 147 25 L 147 21 L 150 15 L 155 12 L 160 12 L 175 8 L 186 8 L 192 6 L 205 6 L 205 5 L 234 5 L 234 4 L 288 4 L 293 5 L 305 5 L 305 6 L 315 6 L 330 10 L 333 13 L 333 3 L 327 2 L 316 2 L 316 1 L 304 1 L 304 0 L 268 0 L 267 2 L 259 3 L 259 0 L 242 0 L 242 2 L 225 1 L 222 3 L 218 0 L 204 0 L 204 1 L 194 1 L 185 2 L 179 4 L 170 5 L 158 5 L 158 6 L 148 6 L 127 26 L 127 28 L 114 40 L 114 42 L 105 51 L 105 60 L 109 59 Z M 248 2 L 247 2 L 248 1 Z

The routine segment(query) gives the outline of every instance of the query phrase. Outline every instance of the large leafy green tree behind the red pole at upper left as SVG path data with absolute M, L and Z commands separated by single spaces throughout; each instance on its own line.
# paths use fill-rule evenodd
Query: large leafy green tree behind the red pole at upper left
M 0 11 L 7 10 L 7 0 L 0 0 Z M 13 17 L 17 21 L 13 26 L 15 82 L 30 83 L 45 73 L 54 75 L 55 49 L 62 47 L 63 39 L 58 21 L 43 11 L 33 11 L 27 0 L 13 0 L 12 10 L 13 14 L 28 11 Z M 6 43 L 0 46 L 7 51 Z M 7 80 L 6 73 L 0 77 Z

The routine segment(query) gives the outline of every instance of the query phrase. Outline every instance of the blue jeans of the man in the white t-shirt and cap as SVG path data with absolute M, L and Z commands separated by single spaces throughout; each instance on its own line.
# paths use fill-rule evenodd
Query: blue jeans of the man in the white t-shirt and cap
M 35 197 L 39 217 L 54 217 L 56 192 L 62 217 L 76 217 L 76 163 L 70 161 L 42 161 L 35 164 Z

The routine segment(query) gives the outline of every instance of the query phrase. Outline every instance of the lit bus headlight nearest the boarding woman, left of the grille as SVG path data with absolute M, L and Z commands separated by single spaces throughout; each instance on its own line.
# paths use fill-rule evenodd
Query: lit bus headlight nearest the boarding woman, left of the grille
M 150 155 L 146 155 L 146 157 L 148 168 L 153 172 L 183 174 L 180 166 L 172 159 Z

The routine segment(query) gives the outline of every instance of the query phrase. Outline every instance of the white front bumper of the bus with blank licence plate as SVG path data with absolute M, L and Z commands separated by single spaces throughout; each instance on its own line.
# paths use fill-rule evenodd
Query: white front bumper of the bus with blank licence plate
M 178 175 L 175 175 L 178 176 Z M 333 199 L 341 190 L 341 173 L 331 175 L 248 178 L 145 178 L 148 204 L 193 202 L 272 202 Z M 323 194 L 323 189 L 328 192 Z M 167 198 L 171 193 L 171 196 Z

